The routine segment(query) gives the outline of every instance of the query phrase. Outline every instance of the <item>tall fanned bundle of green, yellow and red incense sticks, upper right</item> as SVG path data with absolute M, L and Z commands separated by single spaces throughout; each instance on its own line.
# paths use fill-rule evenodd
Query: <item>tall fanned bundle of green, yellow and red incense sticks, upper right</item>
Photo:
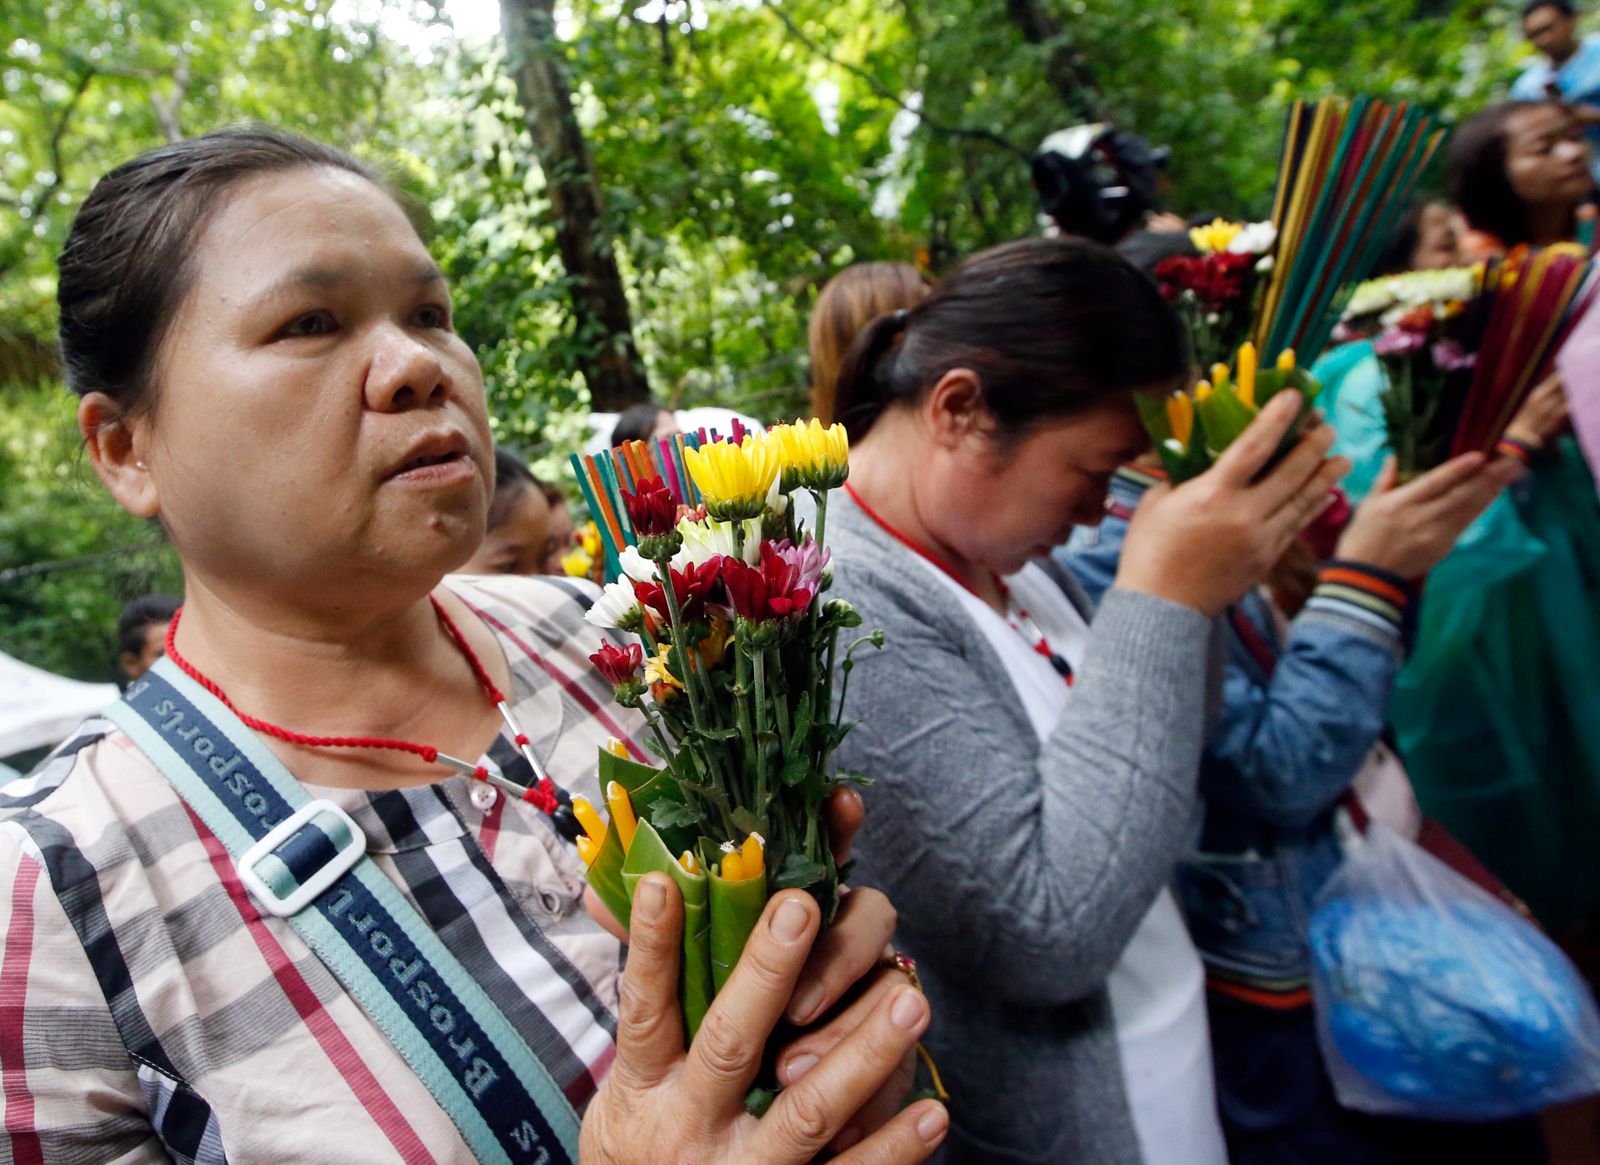
M 1326 349 L 1443 141 L 1434 117 L 1406 102 L 1294 102 L 1272 206 L 1272 277 L 1254 312 L 1262 363 Z

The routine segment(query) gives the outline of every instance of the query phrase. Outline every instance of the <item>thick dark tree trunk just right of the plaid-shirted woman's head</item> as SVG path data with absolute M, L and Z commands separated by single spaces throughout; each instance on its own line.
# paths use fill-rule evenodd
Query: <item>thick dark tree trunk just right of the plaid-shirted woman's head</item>
M 650 400 L 650 381 L 634 344 L 622 274 L 602 208 L 589 146 L 573 114 L 560 64 L 554 0 L 501 0 L 507 67 L 522 98 L 533 150 L 544 171 L 555 240 L 566 267 L 574 331 L 594 336 L 581 371 L 595 410 L 619 411 Z

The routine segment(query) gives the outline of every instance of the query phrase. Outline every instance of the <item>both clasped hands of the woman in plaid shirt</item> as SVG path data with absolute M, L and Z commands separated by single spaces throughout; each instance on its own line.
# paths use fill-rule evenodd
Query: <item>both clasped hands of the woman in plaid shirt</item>
M 859 800 L 835 797 L 835 839 Z M 854 816 L 842 831 L 840 810 Z M 592 904 L 594 909 L 594 904 Z M 845 896 L 822 935 L 810 895 L 766 904 L 728 984 L 690 1048 L 678 1013 L 683 901 L 653 874 L 634 896 L 616 1061 L 584 1117 L 581 1165 L 800 1165 L 824 1149 L 845 1165 L 912 1165 L 938 1149 L 949 1115 L 938 1101 L 899 1111 L 910 1087 L 928 1000 L 894 970 L 874 970 L 894 909 L 874 890 Z M 837 1008 L 850 997 L 848 1005 Z M 784 1090 L 757 1119 L 744 1098 L 781 1019 L 808 1024 L 778 1056 Z

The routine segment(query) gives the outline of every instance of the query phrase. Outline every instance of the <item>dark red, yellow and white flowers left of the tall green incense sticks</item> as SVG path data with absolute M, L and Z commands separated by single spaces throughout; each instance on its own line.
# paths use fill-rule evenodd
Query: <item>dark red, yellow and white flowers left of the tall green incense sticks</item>
M 1261 275 L 1272 270 L 1270 222 L 1227 222 L 1189 232 L 1198 254 L 1174 254 L 1155 267 L 1155 283 L 1189 333 L 1202 368 L 1226 360 L 1250 338 L 1250 306 Z

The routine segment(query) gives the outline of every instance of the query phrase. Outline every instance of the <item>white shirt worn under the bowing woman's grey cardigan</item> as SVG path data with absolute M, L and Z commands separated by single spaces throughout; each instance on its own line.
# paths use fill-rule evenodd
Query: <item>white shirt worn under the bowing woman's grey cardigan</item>
M 1034 731 L 1045 741 L 1067 707 L 1070 685 L 1035 650 L 1037 640 L 942 570 L 925 565 L 960 597 L 989 639 Z M 1090 629 L 1061 587 L 1035 563 L 1008 578 L 1006 586 L 1013 605 L 1029 613 L 1034 629 L 1077 672 Z M 1146 1165 L 1227 1165 L 1216 1115 L 1205 968 L 1170 890 L 1163 888 L 1150 904 L 1107 989 L 1123 1088 Z

